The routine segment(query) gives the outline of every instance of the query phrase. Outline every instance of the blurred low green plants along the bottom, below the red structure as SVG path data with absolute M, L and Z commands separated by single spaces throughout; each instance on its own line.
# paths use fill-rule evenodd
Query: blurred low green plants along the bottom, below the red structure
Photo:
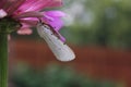
M 115 82 L 93 79 L 57 64 L 44 71 L 19 66 L 12 75 L 12 83 L 15 87 L 118 87 Z

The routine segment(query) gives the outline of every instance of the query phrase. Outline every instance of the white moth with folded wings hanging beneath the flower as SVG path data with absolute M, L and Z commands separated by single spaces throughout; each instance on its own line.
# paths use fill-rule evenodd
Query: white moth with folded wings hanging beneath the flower
M 56 35 L 49 25 L 38 23 L 37 32 L 39 36 L 45 39 L 52 53 L 59 61 L 67 62 L 75 59 L 74 52 L 69 46 L 63 44 L 60 38 L 58 38 L 59 35 Z

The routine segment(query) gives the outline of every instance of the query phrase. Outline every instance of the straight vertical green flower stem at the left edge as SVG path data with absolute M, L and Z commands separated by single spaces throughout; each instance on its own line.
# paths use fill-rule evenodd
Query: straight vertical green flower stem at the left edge
M 0 87 L 8 87 L 8 34 L 0 34 Z

